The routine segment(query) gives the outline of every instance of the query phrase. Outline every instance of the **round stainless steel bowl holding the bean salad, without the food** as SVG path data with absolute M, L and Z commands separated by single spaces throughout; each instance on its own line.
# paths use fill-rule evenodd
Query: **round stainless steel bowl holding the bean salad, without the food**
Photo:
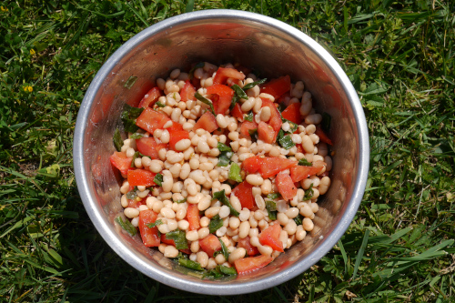
M 207 281 L 182 268 L 115 222 L 122 213 L 119 178 L 109 163 L 112 136 L 125 103 L 137 104 L 154 79 L 192 63 L 239 63 L 261 77 L 303 80 L 319 113 L 332 117 L 332 184 L 319 198 L 315 228 L 268 267 L 232 280 Z M 126 81 L 137 77 L 127 88 Z M 232 295 L 271 288 L 322 258 L 344 234 L 362 199 L 369 169 L 368 127 L 348 76 L 308 35 L 273 18 L 242 11 L 207 10 L 177 15 L 135 35 L 98 71 L 82 102 L 74 137 L 76 182 L 88 216 L 116 253 L 150 278 L 174 288 Z

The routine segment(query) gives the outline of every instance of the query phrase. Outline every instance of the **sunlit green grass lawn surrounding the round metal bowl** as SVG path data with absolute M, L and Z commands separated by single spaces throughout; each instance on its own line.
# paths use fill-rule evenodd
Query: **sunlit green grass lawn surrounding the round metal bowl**
M 453 1 L 5 1 L 0 10 L 1 302 L 450 302 L 455 297 Z M 78 197 L 86 88 L 148 25 L 187 10 L 269 15 L 317 39 L 369 123 L 367 191 L 327 256 L 238 297 L 185 293 L 126 265 Z M 33 89 L 33 91 L 32 91 Z

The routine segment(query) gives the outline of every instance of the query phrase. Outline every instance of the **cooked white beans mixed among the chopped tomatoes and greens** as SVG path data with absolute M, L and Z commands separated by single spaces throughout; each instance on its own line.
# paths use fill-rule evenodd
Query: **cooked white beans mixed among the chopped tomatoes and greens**
M 230 64 L 225 67 L 234 68 Z M 212 86 L 213 76 L 215 76 L 216 71 L 217 66 L 209 63 L 206 63 L 203 68 L 196 69 L 194 76 L 200 79 L 201 85 L 201 88 L 198 89 L 199 94 L 204 96 L 206 87 Z M 298 188 L 297 196 L 292 200 L 289 202 L 282 199 L 276 200 L 277 221 L 282 227 L 279 239 L 283 244 L 283 248 L 288 248 L 297 241 L 303 240 L 307 232 L 313 229 L 312 219 L 319 209 L 317 199 L 319 195 L 325 194 L 330 186 L 330 178 L 326 173 L 332 167 L 332 160 L 328 155 L 328 146 L 323 142 L 319 142 L 319 136 L 315 134 L 316 126 L 321 122 L 322 117 L 315 113 L 312 108 L 311 95 L 304 90 L 303 83 L 299 81 L 291 85 L 291 96 L 285 102 L 287 105 L 301 103 L 300 114 L 305 118 L 305 122 L 298 126 L 298 133 L 291 135 L 291 138 L 294 143 L 301 144 L 303 153 L 298 152 L 297 146 L 287 150 L 277 144 L 266 144 L 260 140 L 253 143 L 250 139 L 241 137 L 239 135 L 241 123 L 236 117 L 228 114 L 217 115 L 217 126 L 219 126 L 221 131 L 217 130 L 210 134 L 204 129 L 194 130 L 193 127 L 197 118 L 202 116 L 208 106 L 198 100 L 181 101 L 179 92 L 188 78 L 187 73 L 182 73 L 179 69 L 175 69 L 166 80 L 157 79 L 157 86 L 165 95 L 159 97 L 158 101 L 164 107 L 155 105 L 154 108 L 158 112 L 169 116 L 173 122 L 180 123 L 189 132 L 189 139 L 183 139 L 177 143 L 177 152 L 166 148 L 160 149 L 158 152 L 159 159 L 151 159 L 149 157 L 137 157 L 135 159 L 134 165 L 137 168 L 162 174 L 163 182 L 162 187 L 137 187 L 137 197 L 147 197 L 150 191 L 152 196 L 147 197 L 146 205 L 134 208 L 128 207 L 126 193 L 129 190 L 129 184 L 125 179 L 123 186 L 120 188 L 123 194 L 121 204 L 125 207 L 125 216 L 131 219 L 133 226 L 137 227 L 139 212 L 152 209 L 163 222 L 163 224 L 158 226 L 158 230 L 162 234 L 177 228 L 186 231 L 188 247 L 191 250 L 189 258 L 197 261 L 202 268 L 210 269 L 217 267 L 217 265 L 230 267 L 238 258 L 245 258 L 246 249 L 237 247 L 237 244 L 239 239 L 248 236 L 250 244 L 258 247 L 260 254 L 276 258 L 280 252 L 273 250 L 272 247 L 267 245 L 261 245 L 258 239 L 261 231 L 273 223 L 268 218 L 264 199 L 268 194 L 278 192 L 278 188 L 275 185 L 275 177 L 264 179 L 259 174 L 245 176 L 242 171 L 242 178 L 253 186 L 253 197 L 257 205 L 257 207 L 253 208 L 256 209 L 254 211 L 248 208 L 242 209 L 238 197 L 231 194 L 231 187 L 225 183 L 230 166 L 217 167 L 217 156 L 220 154 L 217 149 L 217 143 L 227 143 L 227 139 L 230 140 L 227 144 L 235 152 L 234 156 L 231 157 L 231 161 L 236 162 L 240 167 L 242 161 L 248 157 L 260 155 L 283 157 L 292 160 L 306 158 L 310 163 L 314 161 L 326 163 L 319 176 L 308 177 L 300 181 L 301 188 Z M 256 80 L 256 76 L 250 74 L 245 80 L 240 81 L 239 86 L 245 86 Z M 275 101 L 274 97 L 268 94 L 260 94 L 258 86 L 248 89 L 246 93 L 248 99 L 240 100 L 242 110 L 245 112 L 252 110 L 255 114 L 254 119 L 257 122 L 267 122 L 270 118 L 270 110 L 269 107 L 261 108 L 262 101 L 260 97 L 268 97 L 272 102 Z M 153 136 L 157 143 L 168 143 L 169 132 L 167 127 L 169 126 L 172 126 L 171 122 L 168 122 L 163 129 L 155 130 L 153 134 L 148 134 L 144 131 L 143 133 L 144 136 Z M 288 123 L 284 123 L 282 129 L 288 131 L 289 127 Z M 121 151 L 126 153 L 126 157 L 133 157 L 136 152 L 136 140 L 127 138 Z M 123 177 L 126 178 L 126 176 Z M 308 189 L 311 184 L 313 185 L 313 196 L 311 199 L 303 201 L 305 189 Z M 236 183 L 233 182 L 232 188 L 235 186 Z M 238 217 L 231 216 L 229 207 L 218 200 L 212 201 L 212 194 L 223 189 L 231 205 L 238 210 L 240 214 Z M 173 202 L 184 198 L 187 198 L 185 203 Z M 188 230 L 189 223 L 186 219 L 188 204 L 197 204 L 197 208 L 204 212 L 204 216 L 200 218 L 200 228 L 197 230 Z M 304 217 L 301 225 L 297 225 L 293 220 L 298 214 Z M 228 259 L 223 254 L 218 254 L 215 258 L 209 258 L 207 253 L 202 251 L 199 246 L 199 239 L 203 239 L 209 234 L 208 224 L 210 218 L 216 215 L 223 219 L 223 227 L 217 229 L 215 234 L 229 250 Z M 167 258 L 176 258 L 178 255 L 177 248 L 171 245 L 161 243 L 158 249 Z

